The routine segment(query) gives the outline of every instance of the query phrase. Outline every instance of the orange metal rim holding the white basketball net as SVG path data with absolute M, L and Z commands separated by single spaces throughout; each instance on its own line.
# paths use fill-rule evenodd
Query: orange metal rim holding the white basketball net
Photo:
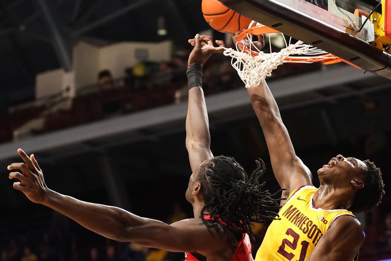
M 273 29 L 273 28 L 270 28 L 270 27 L 267 27 L 263 24 L 259 24 L 259 25 L 256 25 L 256 26 L 252 26 L 246 30 L 244 30 L 243 32 L 241 32 L 238 36 L 238 42 L 240 42 L 241 40 L 243 40 L 244 38 L 247 37 L 247 35 L 251 34 L 251 35 L 261 35 L 261 34 L 271 34 L 271 33 L 281 33 L 280 31 L 277 31 L 276 29 Z M 254 50 L 250 50 L 248 47 L 244 46 L 244 44 L 238 44 L 239 46 L 239 49 L 240 50 L 245 50 L 247 51 L 247 53 L 251 54 L 251 56 L 258 56 L 259 55 L 259 52 L 257 51 L 254 51 Z M 241 49 L 243 48 L 243 49 Z M 286 57 L 284 59 L 284 61 L 286 63 L 316 63 L 316 62 L 323 62 L 324 64 L 335 64 L 335 63 L 339 63 L 339 62 L 342 62 L 342 60 L 340 58 L 338 58 L 337 56 L 331 54 L 331 53 L 327 53 L 327 54 L 323 54 L 323 55 L 318 55 L 318 56 L 312 56 L 311 58 L 308 58 L 308 57 Z

